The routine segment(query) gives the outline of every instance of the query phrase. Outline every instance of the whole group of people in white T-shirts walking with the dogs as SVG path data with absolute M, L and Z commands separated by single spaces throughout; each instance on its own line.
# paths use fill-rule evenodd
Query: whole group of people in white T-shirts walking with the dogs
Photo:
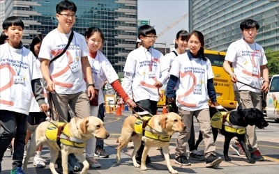
M 156 30 L 149 25 L 140 26 L 138 39 L 142 45 L 128 54 L 124 68 L 125 85 L 122 88 L 110 61 L 100 51 L 105 41 L 102 31 L 90 27 L 81 35 L 72 30 L 76 11 L 77 7 L 72 1 L 59 2 L 56 5 L 57 28 L 45 37 L 36 36 L 31 43 L 32 52 L 21 42 L 24 30 L 22 20 L 19 17 L 8 17 L 3 22 L 8 42 L 0 46 L 0 120 L 3 128 L 0 135 L 0 173 L 3 154 L 13 138 L 15 150 L 11 173 L 24 173 L 24 146 L 30 134 L 26 132 L 27 120 L 31 125 L 38 124 L 45 120 L 45 113 L 49 109 L 52 119 L 60 122 L 68 120 L 69 109 L 80 118 L 98 116 L 99 112 L 103 112 L 104 97 L 101 89 L 106 80 L 128 106 L 135 108 L 135 111 L 149 111 L 152 115 L 157 112 L 160 87 L 167 83 L 167 100 L 175 103 L 177 113 L 186 125 L 186 131 L 179 133 L 177 139 L 175 162 L 190 165 L 186 157 L 186 143 L 190 137 L 195 142 L 195 135 L 190 136 L 195 116 L 204 139 L 206 167 L 220 164 L 222 159 L 216 156 L 209 117 L 208 101 L 211 100 L 211 106 L 216 106 L 216 93 L 211 63 L 204 56 L 204 35 L 199 31 L 179 31 L 176 35 L 176 50 L 163 56 L 152 48 L 157 38 Z M 258 89 L 266 91 L 269 88 L 264 49 L 254 41 L 258 28 L 257 22 L 252 19 L 241 23 L 243 39 L 229 46 L 230 54 L 227 54 L 224 63 L 226 72 L 236 82 L 243 108 L 260 106 Z M 250 54 L 242 55 L 244 51 Z M 261 74 L 265 81 L 262 86 L 257 83 Z M 248 81 L 255 88 L 239 84 L 238 79 Z M 45 101 L 44 90 L 51 100 Z M 98 100 L 93 104 L 91 101 L 94 97 L 98 97 Z M 262 160 L 257 148 L 255 127 L 248 128 L 247 134 L 251 156 Z M 33 164 L 36 166 L 45 166 L 40 157 L 41 148 L 38 148 L 34 157 Z M 100 151 L 105 152 L 102 150 L 102 142 L 99 142 L 98 149 L 99 155 Z M 143 149 L 144 142 L 137 151 L 137 161 L 141 161 Z M 190 150 L 193 156 L 202 156 L 197 153 L 197 149 Z M 94 155 L 98 155 L 95 138 L 89 139 L 85 153 L 91 168 L 100 167 L 94 159 Z M 151 162 L 149 156 L 146 162 Z M 56 164 L 61 172 L 61 154 Z M 80 168 L 75 155 L 69 155 L 68 171 L 71 173 Z

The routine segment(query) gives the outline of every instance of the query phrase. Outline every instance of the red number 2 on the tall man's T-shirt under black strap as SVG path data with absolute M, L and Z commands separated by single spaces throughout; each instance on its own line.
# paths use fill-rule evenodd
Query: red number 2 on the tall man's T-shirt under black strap
M 61 53 L 63 50 L 60 50 L 58 52 L 54 52 L 52 51 L 53 56 L 58 55 L 59 53 Z M 51 75 L 51 79 L 54 82 L 55 85 L 61 86 L 61 87 L 65 87 L 65 88 L 71 88 L 73 87 L 73 84 L 69 84 L 69 83 L 63 83 L 61 81 L 55 81 L 54 78 L 61 76 L 62 74 L 66 73 L 68 70 L 70 70 L 70 64 L 73 63 L 73 57 L 70 55 L 70 53 L 68 51 L 65 52 L 69 58 L 68 64 L 66 64 L 66 67 L 63 68 L 63 70 L 56 72 L 55 74 Z

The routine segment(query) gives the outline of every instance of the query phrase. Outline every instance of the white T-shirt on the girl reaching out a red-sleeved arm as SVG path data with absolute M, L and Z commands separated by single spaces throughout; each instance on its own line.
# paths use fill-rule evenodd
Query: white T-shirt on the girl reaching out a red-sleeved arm
M 91 65 L 95 88 L 99 90 L 98 102 L 99 104 L 104 103 L 102 88 L 105 79 L 107 79 L 107 81 L 112 84 L 112 82 L 119 79 L 119 77 L 112 67 L 110 61 L 107 60 L 102 52 L 97 51 L 96 58 L 91 58 L 91 56 L 89 55 L 88 61 Z

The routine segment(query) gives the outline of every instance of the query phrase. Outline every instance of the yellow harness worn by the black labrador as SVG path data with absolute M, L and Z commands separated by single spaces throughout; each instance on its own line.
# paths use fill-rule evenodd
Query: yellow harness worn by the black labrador
M 226 132 L 234 134 L 245 134 L 246 132 L 245 127 L 232 125 L 232 123 L 229 122 L 229 112 L 215 113 L 211 118 L 211 126 L 216 129 L 222 129 L 222 127 L 224 127 Z

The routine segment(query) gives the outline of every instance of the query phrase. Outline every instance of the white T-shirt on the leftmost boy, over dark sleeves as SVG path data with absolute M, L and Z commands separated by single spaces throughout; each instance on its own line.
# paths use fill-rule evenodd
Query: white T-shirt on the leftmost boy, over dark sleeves
M 28 115 L 33 96 L 31 80 L 40 78 L 36 58 L 29 49 L 15 49 L 8 43 L 0 45 L 1 110 Z

